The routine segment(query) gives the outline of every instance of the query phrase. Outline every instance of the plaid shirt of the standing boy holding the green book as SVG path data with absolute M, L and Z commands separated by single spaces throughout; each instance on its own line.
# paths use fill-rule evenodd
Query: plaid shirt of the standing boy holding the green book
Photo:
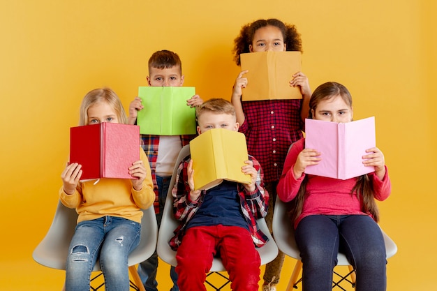
M 195 135 L 180 135 L 182 147 L 190 143 Z M 159 202 L 158 202 L 158 185 L 156 184 L 156 160 L 158 159 L 158 146 L 159 146 L 159 135 L 140 135 L 140 143 L 142 149 L 145 151 L 147 158 L 149 159 L 151 179 L 154 182 L 154 193 L 155 201 L 154 208 L 155 213 L 159 213 Z

